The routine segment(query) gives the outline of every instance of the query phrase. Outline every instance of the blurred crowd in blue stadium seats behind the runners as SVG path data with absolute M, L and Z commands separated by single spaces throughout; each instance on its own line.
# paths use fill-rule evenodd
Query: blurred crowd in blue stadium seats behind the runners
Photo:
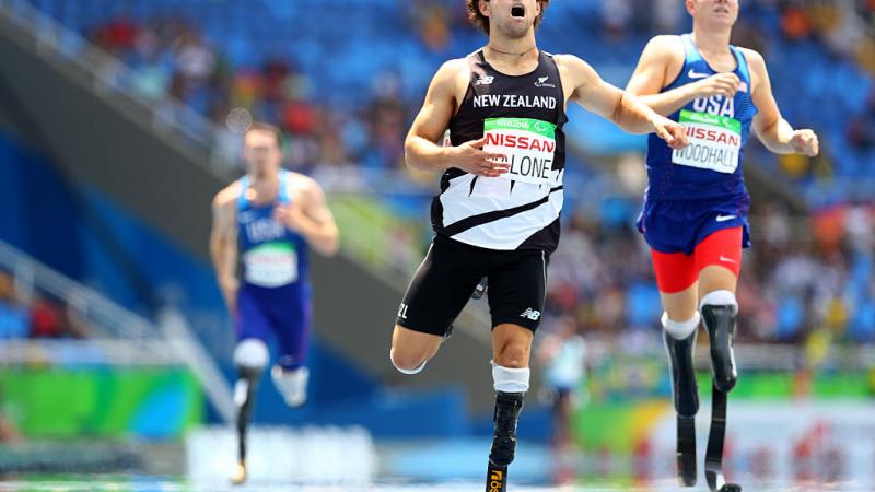
M 405 174 L 404 137 L 428 77 L 444 59 L 482 43 L 460 0 L 258 1 L 245 8 L 221 1 L 32 3 L 130 67 L 117 74 L 119 85 L 168 113 L 186 105 L 218 124 L 222 130 L 210 138 L 226 155 L 238 151 L 234 130 L 248 114 L 291 137 L 290 166 L 320 175 Z M 575 51 L 596 68 L 619 63 L 631 72 L 649 36 L 687 28 L 680 5 L 557 1 L 541 45 Z M 359 21 L 323 22 L 341 11 Z M 317 17 L 325 19 L 307 21 Z M 825 149 L 815 160 L 773 157 L 758 144 L 750 152 L 749 161 L 791 184 L 813 211 L 800 216 L 782 201 L 754 197 L 755 248 L 746 254 L 738 293 L 744 341 L 875 342 L 875 208 L 871 192 L 859 192 L 875 183 L 873 33 L 872 0 L 743 2 L 736 43 L 763 52 L 786 118 L 815 128 Z M 416 177 L 401 186 L 421 186 L 424 194 L 432 181 Z M 567 209 L 551 263 L 553 319 L 571 315 L 594 337 L 655 329 L 658 294 L 633 230 L 637 208 L 638 197 L 627 196 L 585 212 Z M 424 236 L 398 239 L 420 247 Z M 21 305 L 11 309 L 30 313 Z

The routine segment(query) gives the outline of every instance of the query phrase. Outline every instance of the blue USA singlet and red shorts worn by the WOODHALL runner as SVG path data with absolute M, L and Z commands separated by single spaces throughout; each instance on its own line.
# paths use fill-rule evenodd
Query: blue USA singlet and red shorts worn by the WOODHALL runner
M 718 73 L 689 34 L 681 40 L 684 67 L 662 92 Z M 757 108 L 751 101 L 747 59 L 737 47 L 730 46 L 730 50 L 736 60 L 734 73 L 742 82 L 735 96 L 698 98 L 669 115 L 687 128 L 690 145 L 675 151 L 656 134 L 649 137 L 649 186 L 637 225 L 652 248 L 663 292 L 690 286 L 709 265 L 724 266 L 737 274 L 742 247 L 749 246 L 750 196 L 742 160 Z

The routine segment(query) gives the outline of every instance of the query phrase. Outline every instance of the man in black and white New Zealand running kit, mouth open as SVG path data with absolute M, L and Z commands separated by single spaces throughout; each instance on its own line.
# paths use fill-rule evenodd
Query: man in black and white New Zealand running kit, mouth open
M 498 393 L 490 469 L 499 469 L 501 483 L 529 386 L 547 261 L 559 241 L 565 104 L 576 102 L 627 131 L 656 132 L 675 148 L 686 144 L 680 125 L 602 81 L 580 58 L 537 48 L 535 27 L 548 3 L 467 0 L 489 43 L 441 67 L 405 142 L 409 166 L 443 176 L 432 203 L 436 235 L 398 311 L 392 363 L 405 374 L 422 371 L 488 279 Z M 447 128 L 452 147 L 439 145 Z

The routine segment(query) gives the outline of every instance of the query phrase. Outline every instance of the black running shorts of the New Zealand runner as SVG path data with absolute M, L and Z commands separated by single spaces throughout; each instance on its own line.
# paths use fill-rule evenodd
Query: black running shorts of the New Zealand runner
M 486 249 L 438 235 L 407 288 L 395 323 L 443 336 L 486 277 L 492 327 L 513 324 L 535 331 L 544 311 L 548 261 L 549 254 L 541 249 Z

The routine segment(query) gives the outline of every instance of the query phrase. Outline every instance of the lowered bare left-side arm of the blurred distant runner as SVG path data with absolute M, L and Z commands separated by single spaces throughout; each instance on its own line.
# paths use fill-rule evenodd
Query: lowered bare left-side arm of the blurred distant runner
M 215 279 L 230 312 L 236 308 L 237 296 L 237 224 L 235 197 L 240 186 L 234 184 L 220 191 L 212 202 L 210 257 Z

